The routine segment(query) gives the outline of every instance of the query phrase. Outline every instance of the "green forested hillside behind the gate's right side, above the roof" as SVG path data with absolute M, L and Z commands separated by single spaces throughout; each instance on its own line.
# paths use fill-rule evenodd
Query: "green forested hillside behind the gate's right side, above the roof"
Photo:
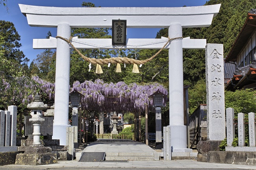
M 223 44 L 226 56 L 245 23 L 248 11 L 256 8 L 256 0 L 210 0 L 205 5 L 214 4 L 221 4 L 221 9 L 213 18 L 211 26 L 184 28 L 183 37 L 206 38 L 207 43 Z M 168 30 L 161 29 L 156 38 L 161 36 L 167 37 Z M 204 50 L 184 50 L 183 60 L 184 84 L 194 85 L 198 80 L 205 79 Z

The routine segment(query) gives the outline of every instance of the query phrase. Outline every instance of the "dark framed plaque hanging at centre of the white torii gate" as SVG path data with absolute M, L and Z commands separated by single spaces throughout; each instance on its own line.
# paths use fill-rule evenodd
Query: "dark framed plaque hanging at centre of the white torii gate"
M 112 20 L 112 45 L 126 45 L 126 20 Z

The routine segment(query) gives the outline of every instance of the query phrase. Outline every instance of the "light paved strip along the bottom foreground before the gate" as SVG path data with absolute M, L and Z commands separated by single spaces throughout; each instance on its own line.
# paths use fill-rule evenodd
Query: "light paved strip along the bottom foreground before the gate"
M 0 166 L 0 169 L 8 169 L 11 167 L 20 167 L 22 168 L 35 168 L 35 166 L 28 165 L 4 165 Z M 59 161 L 58 164 L 51 165 L 39 165 L 37 168 L 44 169 L 57 169 L 57 168 L 73 168 L 76 167 L 97 167 L 97 168 L 189 168 L 189 169 L 199 169 L 199 168 L 219 168 L 219 169 L 250 169 L 256 170 L 256 166 L 250 165 L 236 165 L 236 164 L 218 164 L 218 163 L 204 163 L 197 162 L 195 160 L 173 160 L 173 161 L 128 161 L 128 162 L 92 162 L 92 163 L 84 163 L 78 161 Z

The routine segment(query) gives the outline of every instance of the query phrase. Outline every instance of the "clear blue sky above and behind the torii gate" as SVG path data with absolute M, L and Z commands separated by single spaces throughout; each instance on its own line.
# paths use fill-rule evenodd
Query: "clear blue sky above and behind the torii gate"
M 81 7 L 82 2 L 92 2 L 96 6 L 101 7 L 182 7 L 183 5 L 204 5 L 206 0 L 7 0 L 9 11 L 7 12 L 4 6 L 0 6 L 0 20 L 13 22 L 21 38 L 20 43 L 22 47 L 20 50 L 23 51 L 31 62 L 39 53 L 44 51 L 32 48 L 33 39 L 45 38 L 48 31 L 51 31 L 52 37 L 55 37 L 57 28 L 30 27 L 26 17 L 20 12 L 18 4 Z M 159 29 L 128 29 L 127 38 L 155 38 Z

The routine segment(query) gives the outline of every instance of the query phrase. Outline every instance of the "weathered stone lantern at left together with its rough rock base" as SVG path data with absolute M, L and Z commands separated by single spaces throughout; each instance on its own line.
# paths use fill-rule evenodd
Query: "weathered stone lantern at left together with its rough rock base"
M 52 148 L 45 147 L 40 143 L 40 125 L 45 121 L 42 118 L 43 109 L 47 108 L 47 104 L 41 102 L 40 96 L 35 95 L 32 103 L 28 104 L 28 109 L 32 118 L 29 120 L 33 124 L 33 144 L 25 148 L 24 154 L 17 154 L 16 165 L 48 165 L 58 163 L 57 155 L 52 153 Z

